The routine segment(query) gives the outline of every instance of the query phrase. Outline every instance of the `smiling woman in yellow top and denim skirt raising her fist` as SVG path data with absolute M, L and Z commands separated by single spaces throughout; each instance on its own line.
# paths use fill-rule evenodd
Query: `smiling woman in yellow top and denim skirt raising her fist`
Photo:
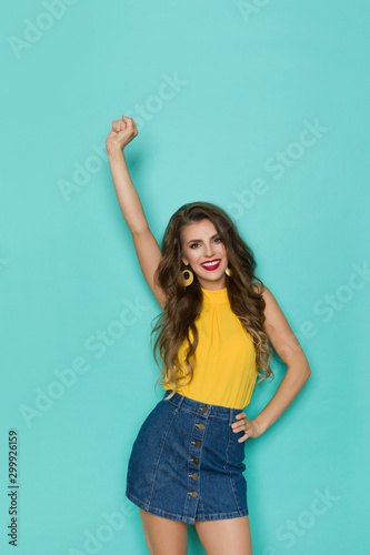
M 140 507 L 151 555 L 186 554 L 188 524 L 208 555 L 251 555 L 244 442 L 277 421 L 311 371 L 224 211 L 206 202 L 181 206 L 161 252 L 123 155 L 137 134 L 134 121 L 122 115 L 112 121 L 106 148 L 141 270 L 162 309 L 152 333 L 164 395 L 133 444 L 126 494 Z M 241 410 L 258 370 L 263 380 L 272 375 L 270 344 L 287 373 L 249 420 Z

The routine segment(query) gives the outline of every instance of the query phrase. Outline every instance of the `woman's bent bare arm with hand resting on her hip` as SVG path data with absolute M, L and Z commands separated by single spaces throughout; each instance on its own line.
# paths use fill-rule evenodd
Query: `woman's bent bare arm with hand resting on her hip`
M 236 418 L 240 422 L 232 424 L 233 431 L 246 431 L 244 435 L 238 440 L 239 442 L 248 437 L 259 437 L 266 432 L 288 408 L 311 375 L 306 354 L 277 300 L 267 286 L 261 293 L 266 302 L 264 332 L 287 365 L 287 372 L 273 397 L 256 418 L 248 420 L 246 413 L 237 414 Z

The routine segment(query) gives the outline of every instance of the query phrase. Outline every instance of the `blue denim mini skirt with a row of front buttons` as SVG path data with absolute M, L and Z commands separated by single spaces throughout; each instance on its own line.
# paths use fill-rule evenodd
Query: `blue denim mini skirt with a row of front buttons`
M 248 515 L 239 408 L 171 391 L 142 423 L 128 463 L 126 496 L 149 513 L 193 524 Z

